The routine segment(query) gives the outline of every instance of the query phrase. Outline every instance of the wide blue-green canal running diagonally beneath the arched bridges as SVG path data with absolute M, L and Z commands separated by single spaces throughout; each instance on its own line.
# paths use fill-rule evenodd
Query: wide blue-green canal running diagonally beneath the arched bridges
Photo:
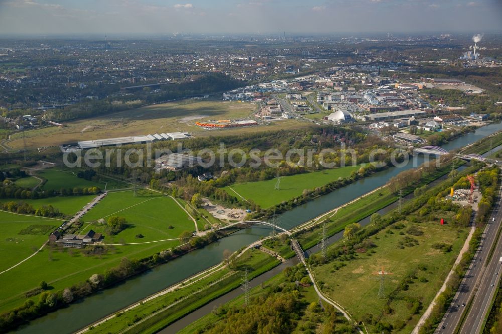
M 460 148 L 501 129 L 502 123 L 489 124 L 477 129 L 475 132 L 451 140 L 449 143 L 442 145 L 442 147 L 448 151 Z M 374 173 L 363 180 L 359 180 L 279 215 L 277 219 L 278 224 L 286 229 L 298 226 L 375 188 L 385 185 L 390 178 L 404 170 L 420 165 L 423 161 L 424 157 L 420 155 L 410 160 L 403 167 L 389 168 L 385 171 Z M 391 208 L 389 207 L 384 210 L 390 210 Z M 190 252 L 169 263 L 118 284 L 113 288 L 94 293 L 80 302 L 73 303 L 57 312 L 33 320 L 18 328 L 17 332 L 39 334 L 46 332 L 71 333 L 77 331 L 108 314 L 117 312 L 149 295 L 218 264 L 222 261 L 223 250 L 236 251 L 269 234 L 270 229 L 259 226 L 238 231 L 203 249 Z M 332 238 L 336 238 L 336 236 Z M 334 241 L 334 239 L 330 241 Z

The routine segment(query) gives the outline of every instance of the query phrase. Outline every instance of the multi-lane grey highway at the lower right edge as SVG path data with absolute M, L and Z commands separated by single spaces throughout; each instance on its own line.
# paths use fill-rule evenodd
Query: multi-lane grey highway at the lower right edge
M 501 190 L 502 188 L 498 191 L 498 199 L 481 237 L 480 246 L 435 333 L 453 333 L 465 310 L 465 306 L 463 305 L 467 305 L 468 301 L 472 298 L 473 302 L 469 308 L 469 314 L 465 318 L 460 333 L 475 334 L 480 330 L 484 314 L 489 306 L 500 276 L 499 258 L 502 256 L 502 238 L 498 240 L 492 258 L 488 261 L 487 257 L 492 244 L 496 241 L 497 231 L 502 223 L 502 210 L 500 210 Z M 492 220 L 493 218 L 495 219 L 494 221 Z M 498 274 L 495 275 L 495 273 Z

